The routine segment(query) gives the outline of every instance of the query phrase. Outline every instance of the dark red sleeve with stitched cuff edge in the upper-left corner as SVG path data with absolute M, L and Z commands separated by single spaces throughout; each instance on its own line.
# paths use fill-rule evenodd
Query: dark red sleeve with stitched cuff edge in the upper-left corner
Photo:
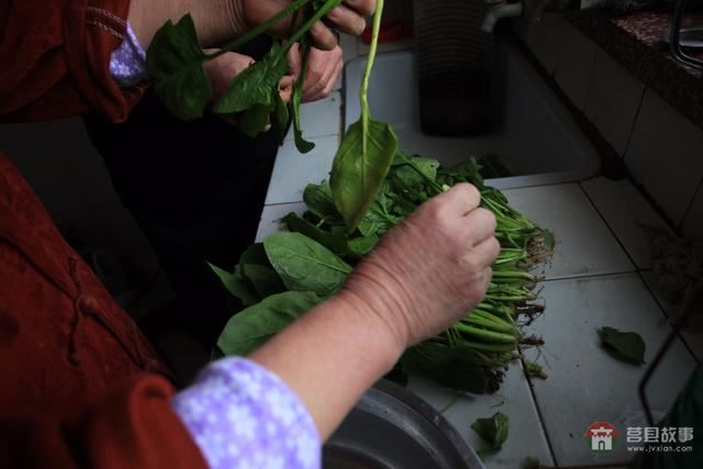
M 99 112 L 123 122 L 147 83 L 120 87 L 112 53 L 130 0 L 0 0 L 0 123 Z

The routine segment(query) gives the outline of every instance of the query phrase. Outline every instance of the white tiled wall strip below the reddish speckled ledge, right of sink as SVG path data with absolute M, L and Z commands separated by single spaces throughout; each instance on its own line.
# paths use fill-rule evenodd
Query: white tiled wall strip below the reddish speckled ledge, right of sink
M 703 130 L 647 89 L 559 13 L 515 30 L 573 105 L 681 228 L 703 238 Z

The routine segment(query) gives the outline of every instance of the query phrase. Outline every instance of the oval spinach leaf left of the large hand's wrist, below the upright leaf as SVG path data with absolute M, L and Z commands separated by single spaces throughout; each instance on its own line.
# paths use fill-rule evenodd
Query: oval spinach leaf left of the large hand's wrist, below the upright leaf
M 320 243 L 300 233 L 275 233 L 264 239 L 274 269 L 290 290 L 335 293 L 352 267 Z

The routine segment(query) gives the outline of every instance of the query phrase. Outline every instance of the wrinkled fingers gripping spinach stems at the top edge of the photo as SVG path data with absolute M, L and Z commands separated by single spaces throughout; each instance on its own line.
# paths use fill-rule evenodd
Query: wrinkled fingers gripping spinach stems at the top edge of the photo
M 290 0 L 235 0 L 231 14 L 234 16 L 235 23 L 241 21 L 246 29 L 252 29 L 274 16 L 289 3 Z M 327 20 L 344 33 L 359 35 L 366 27 L 365 18 L 373 13 L 375 9 L 376 0 L 345 0 L 327 14 Z M 302 15 L 299 14 L 298 22 L 301 21 Z M 286 19 L 278 23 L 271 33 L 282 37 L 287 36 L 291 29 L 291 20 Z M 315 23 L 310 30 L 310 34 L 322 49 L 330 51 L 337 44 L 337 37 L 322 21 Z

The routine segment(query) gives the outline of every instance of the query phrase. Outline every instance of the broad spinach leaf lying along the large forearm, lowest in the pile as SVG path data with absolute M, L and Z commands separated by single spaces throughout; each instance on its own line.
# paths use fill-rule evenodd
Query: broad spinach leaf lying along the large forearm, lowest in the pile
M 309 291 L 268 297 L 232 316 L 217 339 L 217 348 L 224 355 L 248 355 L 321 301 Z

